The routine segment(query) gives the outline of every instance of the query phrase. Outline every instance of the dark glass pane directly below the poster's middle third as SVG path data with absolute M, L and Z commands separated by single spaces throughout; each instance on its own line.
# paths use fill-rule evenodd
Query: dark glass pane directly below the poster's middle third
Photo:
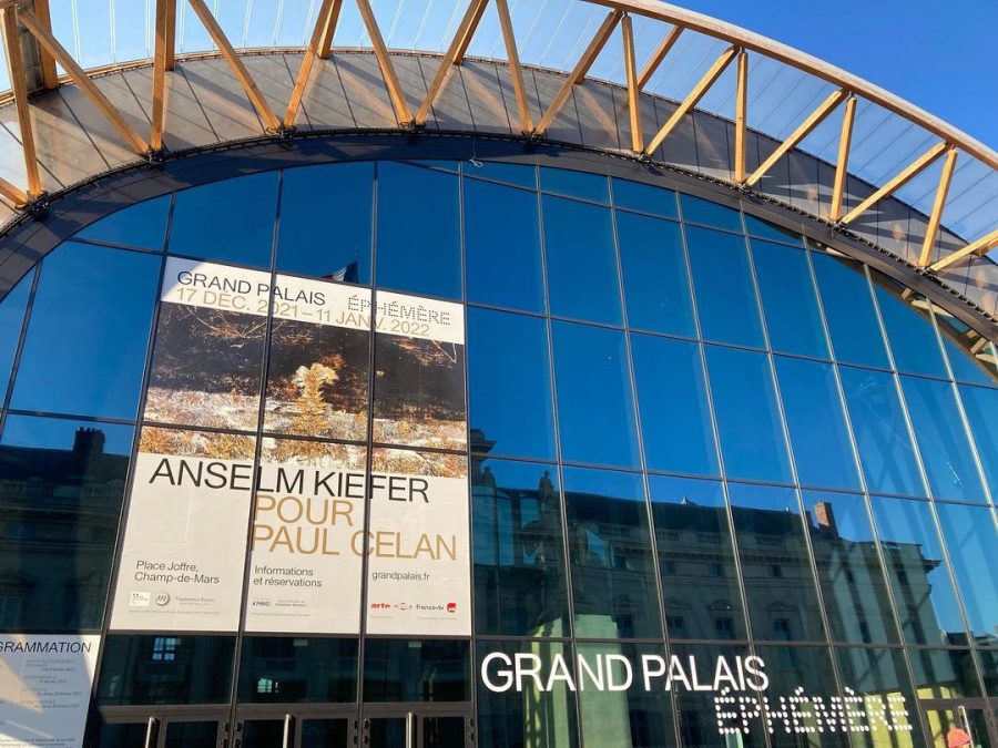
M 247 636 L 238 698 L 248 704 L 353 701 L 357 639 Z

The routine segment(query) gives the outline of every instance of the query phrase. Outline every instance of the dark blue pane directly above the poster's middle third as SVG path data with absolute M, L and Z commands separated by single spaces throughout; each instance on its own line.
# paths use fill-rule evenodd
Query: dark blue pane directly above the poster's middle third
M 285 171 L 277 270 L 369 284 L 373 181 L 370 163 Z

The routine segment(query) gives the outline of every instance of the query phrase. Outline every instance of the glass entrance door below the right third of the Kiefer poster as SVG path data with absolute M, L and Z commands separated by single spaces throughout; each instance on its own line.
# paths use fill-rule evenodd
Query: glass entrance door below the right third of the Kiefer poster
M 366 705 L 360 720 L 365 748 L 472 748 L 470 704 Z

